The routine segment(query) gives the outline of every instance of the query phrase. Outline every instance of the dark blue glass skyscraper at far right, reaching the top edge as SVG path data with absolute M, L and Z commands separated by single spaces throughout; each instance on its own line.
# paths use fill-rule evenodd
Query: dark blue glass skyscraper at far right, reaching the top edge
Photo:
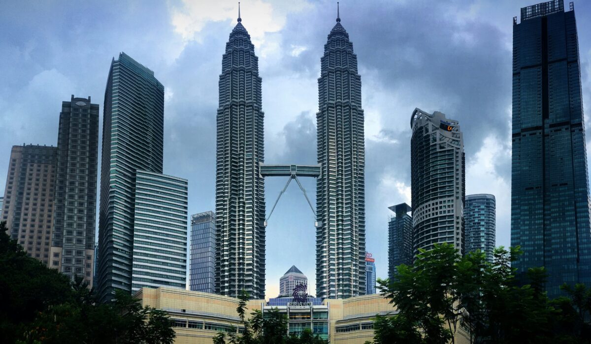
M 511 245 L 518 274 L 544 266 L 548 296 L 591 285 L 589 180 L 573 4 L 521 9 L 513 25 Z

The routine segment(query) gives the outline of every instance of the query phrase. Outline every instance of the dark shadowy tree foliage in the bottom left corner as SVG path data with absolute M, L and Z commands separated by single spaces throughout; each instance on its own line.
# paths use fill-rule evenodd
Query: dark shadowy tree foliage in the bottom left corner
M 49 269 L 6 234 L 0 223 L 2 343 L 173 343 L 170 318 L 119 290 L 112 304 L 96 302 L 82 277 Z

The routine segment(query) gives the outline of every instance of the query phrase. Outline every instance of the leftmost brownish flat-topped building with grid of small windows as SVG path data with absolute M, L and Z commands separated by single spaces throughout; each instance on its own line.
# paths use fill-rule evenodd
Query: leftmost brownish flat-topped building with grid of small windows
M 12 146 L 2 218 L 29 257 L 51 267 L 57 147 Z

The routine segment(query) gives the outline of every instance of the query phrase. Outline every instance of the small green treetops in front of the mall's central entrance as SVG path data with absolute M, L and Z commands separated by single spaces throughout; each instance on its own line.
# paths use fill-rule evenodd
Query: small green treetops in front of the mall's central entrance
M 298 336 L 287 333 L 287 316 L 277 309 L 262 314 L 260 310 L 251 312 L 249 320 L 246 317 L 246 302 L 249 295 L 242 290 L 238 296 L 236 313 L 244 326 L 244 332 L 237 335 L 234 332 L 218 332 L 213 337 L 213 344 L 328 344 L 327 340 L 314 335 L 310 329 L 304 329 Z

